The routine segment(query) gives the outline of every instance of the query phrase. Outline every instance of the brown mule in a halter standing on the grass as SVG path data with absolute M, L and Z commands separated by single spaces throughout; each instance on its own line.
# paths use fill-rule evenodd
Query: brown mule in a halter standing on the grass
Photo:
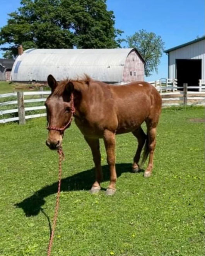
M 104 140 L 110 170 L 107 195 L 114 194 L 116 190 L 116 134 L 133 133 L 138 140 L 133 171 L 139 170 L 140 154 L 144 147 L 142 163 L 149 155 L 144 176 L 149 177 L 152 174 L 156 127 L 162 105 L 161 96 L 152 85 L 142 81 L 114 86 L 94 81 L 88 76 L 82 80 L 63 80 L 58 83 L 52 75 L 48 76 L 48 85 L 51 88 L 51 95 L 45 102 L 49 124 L 46 145 L 50 149 L 58 149 L 61 146 L 64 127 L 67 127 L 72 118 L 74 106 L 75 123 L 91 147 L 96 168 L 96 180 L 91 193 L 99 192 L 101 189 L 99 138 Z M 144 121 L 147 125 L 147 135 L 141 128 Z

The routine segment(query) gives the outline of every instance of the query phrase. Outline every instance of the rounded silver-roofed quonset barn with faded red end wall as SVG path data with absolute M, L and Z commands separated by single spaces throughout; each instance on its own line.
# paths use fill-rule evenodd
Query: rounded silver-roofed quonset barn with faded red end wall
M 15 82 L 57 81 L 88 74 L 94 80 L 123 84 L 144 81 L 145 61 L 135 48 L 29 49 L 15 60 L 11 79 Z

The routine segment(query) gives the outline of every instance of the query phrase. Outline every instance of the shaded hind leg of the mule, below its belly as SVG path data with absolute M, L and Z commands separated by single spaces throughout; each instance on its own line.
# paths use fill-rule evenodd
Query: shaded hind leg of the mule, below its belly
M 140 166 L 138 164 L 139 161 L 140 161 L 140 154 L 141 154 L 143 146 L 145 144 L 145 140 L 147 138 L 147 135 L 144 133 L 141 126 L 140 126 L 140 128 L 133 131 L 132 133 L 137 138 L 137 141 L 138 141 L 137 151 L 136 151 L 135 157 L 133 159 L 133 165 L 132 165 L 132 171 L 134 173 L 137 173 L 139 171 L 139 168 L 140 168 Z

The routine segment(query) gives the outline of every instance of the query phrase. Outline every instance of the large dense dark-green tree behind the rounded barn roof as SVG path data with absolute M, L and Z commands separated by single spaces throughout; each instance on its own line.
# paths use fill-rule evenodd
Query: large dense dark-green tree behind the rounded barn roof
M 116 48 L 123 31 L 114 28 L 106 0 L 21 0 L 0 30 L 4 57 L 28 48 Z

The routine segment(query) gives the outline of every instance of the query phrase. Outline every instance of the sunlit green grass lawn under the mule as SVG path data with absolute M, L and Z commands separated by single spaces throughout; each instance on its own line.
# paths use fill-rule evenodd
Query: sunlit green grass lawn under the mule
M 153 176 L 130 173 L 131 133 L 117 136 L 117 191 L 89 194 L 89 147 L 74 123 L 65 132 L 62 194 L 53 256 L 203 256 L 204 118 L 202 107 L 163 109 Z M 55 208 L 58 156 L 45 145 L 46 119 L 0 126 L 0 255 L 46 255 Z M 106 189 L 106 154 L 101 141 Z

